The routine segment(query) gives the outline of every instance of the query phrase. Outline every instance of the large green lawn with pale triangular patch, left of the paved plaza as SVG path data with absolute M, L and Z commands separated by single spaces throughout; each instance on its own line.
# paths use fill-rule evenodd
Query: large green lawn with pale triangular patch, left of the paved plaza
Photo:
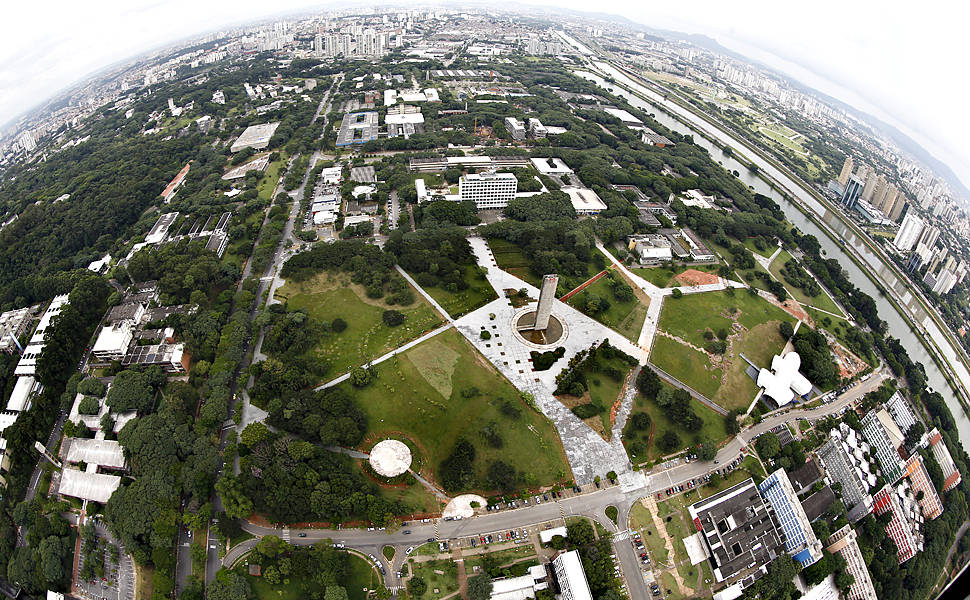
M 457 331 L 441 333 L 374 370 L 376 379 L 364 388 L 341 385 L 367 414 L 369 439 L 396 433 L 418 446 L 422 475 L 437 480 L 439 465 L 458 438 L 465 438 L 475 446 L 479 475 L 491 461 L 502 460 L 532 486 L 570 476 L 553 424 L 525 404 Z M 486 433 L 501 446 L 486 443 Z

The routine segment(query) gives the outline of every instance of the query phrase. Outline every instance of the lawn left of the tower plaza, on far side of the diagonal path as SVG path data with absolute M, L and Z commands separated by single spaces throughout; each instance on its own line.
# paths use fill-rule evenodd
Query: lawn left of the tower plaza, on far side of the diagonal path
M 392 277 L 400 275 L 395 273 Z M 414 302 L 410 305 L 392 306 L 384 299 L 368 298 L 363 286 L 351 282 L 348 273 L 324 272 L 306 281 L 287 282 L 276 291 L 276 298 L 285 301 L 290 309 L 306 309 L 316 322 L 330 323 L 338 317 L 347 322 L 346 330 L 327 334 L 310 351 L 326 359 L 330 374 L 336 377 L 442 323 L 428 301 L 417 290 L 413 291 Z M 403 313 L 404 324 L 385 325 L 382 315 L 388 309 Z

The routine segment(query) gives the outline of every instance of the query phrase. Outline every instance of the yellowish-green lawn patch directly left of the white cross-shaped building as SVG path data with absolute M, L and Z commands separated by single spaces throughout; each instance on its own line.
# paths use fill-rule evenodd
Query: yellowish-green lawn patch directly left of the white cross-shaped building
M 730 365 L 724 372 L 721 387 L 711 400 L 723 408 L 745 409 L 758 393 L 758 384 L 747 374 L 748 362 L 743 354 L 759 367 L 770 367 L 771 359 L 785 348 L 785 338 L 778 331 L 778 322 L 762 323 L 731 342 Z

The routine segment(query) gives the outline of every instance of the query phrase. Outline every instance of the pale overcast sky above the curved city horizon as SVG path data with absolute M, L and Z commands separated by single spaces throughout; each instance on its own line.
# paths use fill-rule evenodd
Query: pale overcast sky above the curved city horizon
M 589 10 L 586 0 L 529 4 Z M 10 3 L 0 41 L 0 124 L 114 62 L 307 0 L 48 0 Z M 360 4 L 372 5 L 362 2 Z M 499 5 L 499 3 L 496 3 Z M 502 4 L 507 6 L 507 4 Z M 898 127 L 970 186 L 965 25 L 953 0 L 614 0 L 605 12 L 702 33 Z

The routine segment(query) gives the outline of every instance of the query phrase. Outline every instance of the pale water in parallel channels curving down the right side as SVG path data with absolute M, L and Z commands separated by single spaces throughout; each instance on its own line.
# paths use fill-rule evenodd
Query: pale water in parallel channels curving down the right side
M 872 298 L 875 300 L 876 307 L 879 310 L 879 316 L 886 321 L 889 326 L 889 334 L 899 339 L 900 343 L 903 345 L 903 348 L 905 348 L 909 353 L 911 360 L 914 362 L 923 363 L 923 366 L 926 368 L 926 378 L 929 387 L 940 392 L 940 394 L 942 394 L 946 399 L 947 406 L 950 407 L 950 411 L 953 413 L 953 418 L 957 423 L 960 439 L 964 444 L 966 444 L 967 441 L 970 440 L 970 418 L 968 418 L 967 413 L 963 410 L 963 406 L 960 404 L 959 399 L 956 397 L 956 394 L 947 383 L 947 379 L 943 375 L 943 372 L 940 371 L 936 362 L 934 362 L 933 357 L 917 337 L 918 335 L 922 334 L 915 332 L 910 328 L 906 319 L 899 313 L 893 303 L 880 293 L 879 289 L 875 286 L 875 284 L 873 284 L 869 277 L 866 276 L 862 269 L 860 269 L 858 265 L 856 265 L 855 262 L 849 258 L 846 251 L 843 250 L 841 246 L 836 244 L 826 232 L 824 232 L 820 227 L 812 222 L 812 220 L 805 216 L 805 214 L 802 213 L 795 204 L 787 200 L 779 192 L 773 189 L 768 182 L 762 178 L 761 175 L 752 173 L 747 166 L 738 162 L 734 156 L 725 154 L 718 146 L 712 144 L 704 136 L 700 135 L 700 132 L 703 131 L 704 134 L 717 139 L 721 143 L 728 144 L 734 149 L 743 149 L 744 146 L 742 142 L 735 138 L 731 133 L 724 131 L 720 127 L 715 127 L 686 108 L 683 108 L 672 101 L 664 100 L 662 96 L 653 90 L 633 81 L 612 65 L 604 62 L 596 62 L 596 67 L 600 71 L 608 73 L 615 81 L 621 82 L 623 85 L 636 90 L 647 98 L 650 98 L 652 103 L 640 99 L 639 97 L 628 92 L 626 89 L 604 80 L 595 73 L 591 73 L 589 71 L 576 71 L 576 74 L 595 82 L 600 87 L 610 89 L 613 94 L 623 97 L 633 106 L 643 109 L 648 114 L 652 114 L 657 122 L 665 127 L 682 135 L 693 136 L 694 143 L 702 148 L 705 148 L 710 153 L 711 157 L 715 161 L 721 163 L 725 169 L 728 171 L 737 171 L 740 174 L 741 181 L 743 181 L 746 185 L 751 186 L 756 192 L 769 196 L 775 202 L 777 202 L 788 220 L 791 221 L 792 224 L 794 224 L 800 231 L 803 233 L 810 233 L 818 238 L 819 244 L 825 251 L 826 257 L 837 259 L 842 265 L 842 268 L 845 269 L 846 273 L 848 273 L 849 279 L 852 281 L 852 283 L 854 283 L 866 294 L 872 296 Z M 672 114 L 676 114 L 678 117 L 688 121 L 692 124 L 692 126 L 689 127 L 685 125 L 680 120 L 674 118 Z M 756 164 L 761 172 L 767 173 L 783 187 L 795 194 L 798 200 L 805 206 L 808 206 L 822 222 L 824 222 L 836 233 L 836 235 L 841 236 L 845 245 L 851 248 L 858 258 L 861 258 L 866 264 L 872 267 L 873 272 L 876 273 L 877 277 L 884 283 L 884 285 L 887 288 L 893 289 L 906 304 L 910 310 L 910 314 L 914 317 L 914 321 L 919 323 L 925 329 L 928 335 L 932 337 L 932 339 L 939 340 L 937 347 L 939 348 L 939 351 L 943 355 L 944 359 L 952 366 L 960 383 L 962 383 L 965 388 L 970 388 L 970 372 L 967 371 L 963 362 L 960 361 L 956 350 L 949 344 L 949 342 L 946 341 L 946 337 L 940 331 L 939 327 L 936 325 L 933 319 L 930 318 L 923 307 L 920 306 L 917 299 L 913 297 L 912 293 L 906 289 L 903 282 L 901 282 L 893 274 L 893 272 L 882 263 L 879 257 L 869 250 L 862 240 L 859 239 L 859 237 L 838 218 L 838 216 L 826 209 L 810 194 L 806 193 L 805 190 L 788 175 L 779 171 L 771 163 L 751 152 L 745 151 L 744 156 L 746 159 L 749 159 L 751 162 Z

